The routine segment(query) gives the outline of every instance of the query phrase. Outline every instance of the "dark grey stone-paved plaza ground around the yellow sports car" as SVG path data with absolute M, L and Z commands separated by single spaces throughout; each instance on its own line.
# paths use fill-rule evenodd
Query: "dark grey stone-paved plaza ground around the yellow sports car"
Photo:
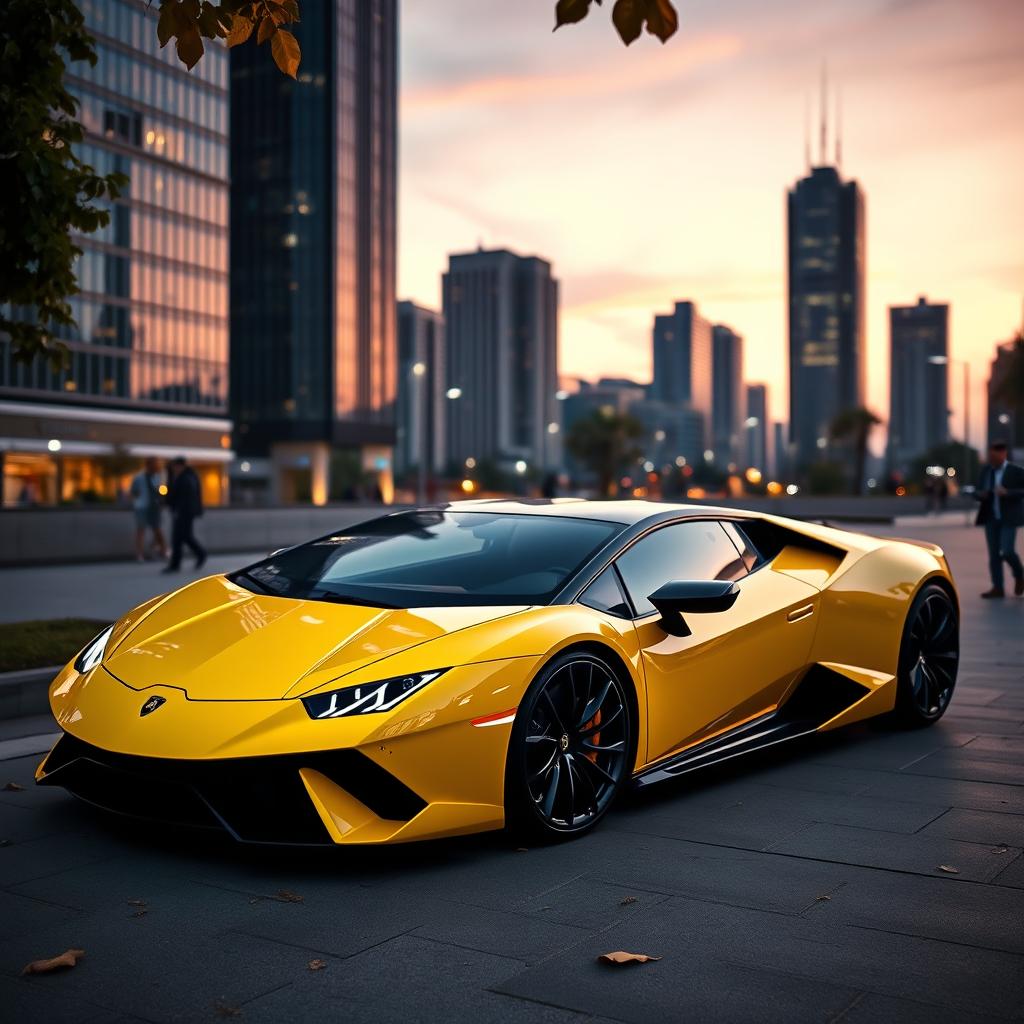
M 274 851 L 113 823 L 33 786 L 25 752 L 51 722 L 0 723 L 0 1019 L 1024 1017 L 1024 600 L 978 599 L 962 517 L 886 530 L 942 544 L 961 588 L 937 726 L 864 724 L 652 787 L 565 845 Z M 0 570 L 0 617 L 112 618 L 165 582 Z M 20 977 L 69 948 L 73 970 Z M 660 959 L 597 963 L 611 950 Z

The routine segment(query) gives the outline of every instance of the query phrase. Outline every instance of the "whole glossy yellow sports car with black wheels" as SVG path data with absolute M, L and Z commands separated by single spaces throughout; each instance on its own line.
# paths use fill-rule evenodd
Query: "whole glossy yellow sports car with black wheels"
M 942 551 L 643 502 L 395 512 L 140 605 L 54 680 L 37 780 L 243 842 L 592 828 L 627 787 L 941 717 Z

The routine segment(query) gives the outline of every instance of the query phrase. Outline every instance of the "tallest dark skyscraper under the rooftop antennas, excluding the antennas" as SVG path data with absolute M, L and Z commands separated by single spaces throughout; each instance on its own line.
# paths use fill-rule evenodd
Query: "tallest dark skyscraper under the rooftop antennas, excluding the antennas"
M 819 166 L 787 204 L 790 441 L 799 471 L 826 454 L 836 416 L 864 403 L 864 196 L 837 167 Z

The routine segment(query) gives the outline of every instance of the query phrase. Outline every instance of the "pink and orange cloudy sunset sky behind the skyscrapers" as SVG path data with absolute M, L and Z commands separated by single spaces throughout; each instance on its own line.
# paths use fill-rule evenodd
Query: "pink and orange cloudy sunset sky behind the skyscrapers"
M 554 34 L 553 0 L 402 4 L 399 295 L 438 305 L 478 243 L 544 256 L 562 373 L 640 380 L 654 312 L 693 299 L 784 418 L 784 196 L 824 59 L 867 197 L 869 404 L 888 417 L 887 307 L 948 301 L 980 443 L 1024 303 L 1024 2 L 678 0 L 677 36 L 629 49 L 611 2 Z

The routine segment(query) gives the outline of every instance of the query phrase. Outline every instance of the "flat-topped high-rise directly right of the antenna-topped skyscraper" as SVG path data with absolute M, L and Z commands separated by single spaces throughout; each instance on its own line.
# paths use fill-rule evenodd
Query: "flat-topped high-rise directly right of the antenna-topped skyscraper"
M 949 439 L 949 306 L 889 307 L 889 467 L 906 472 Z

